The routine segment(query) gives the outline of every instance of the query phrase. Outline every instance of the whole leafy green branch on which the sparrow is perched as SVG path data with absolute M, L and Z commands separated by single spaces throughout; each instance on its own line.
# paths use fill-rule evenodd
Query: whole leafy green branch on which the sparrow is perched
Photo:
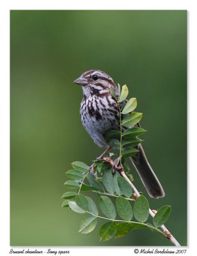
M 88 166 L 79 161 L 72 163 L 73 170 L 68 170 L 66 173 L 67 177 L 72 180 L 65 182 L 65 187 L 72 191 L 64 193 L 63 198 L 65 198 L 65 202 L 63 202 L 63 207 L 70 207 L 72 211 L 81 214 L 89 214 L 81 222 L 79 232 L 83 234 L 94 230 L 97 225 L 97 218 L 107 220 L 99 231 L 101 241 L 125 236 L 132 229 L 147 227 L 168 238 L 175 246 L 180 246 L 175 237 L 164 226 L 164 223 L 169 218 L 171 207 L 164 205 L 158 211 L 151 210 L 148 200 L 145 196 L 139 194 L 138 189 L 123 170 L 123 159 L 138 152 L 136 146 L 142 142 L 138 136 L 146 131 L 135 126 L 143 116 L 142 113 L 134 112 L 137 106 L 136 98 L 126 100 L 129 93 L 126 85 L 122 86 L 121 91 L 120 86 L 118 86 L 118 92 L 117 99 L 114 91 L 111 90 L 120 115 L 120 131 L 107 131 L 104 136 L 109 145 L 112 144 L 113 148 L 119 150 L 119 156 L 105 157 L 103 159 L 107 151 L 111 149 L 109 147 L 97 159 L 99 164 L 94 163 Z M 122 104 L 123 108 L 121 108 Z M 123 126 L 127 127 L 127 130 L 124 132 L 122 132 Z M 119 162 L 119 165 L 117 162 Z M 90 168 L 93 175 L 88 175 L 91 173 Z M 96 176 L 99 179 L 95 179 L 93 168 L 96 169 Z M 114 172 L 116 173 L 114 174 Z M 88 181 L 88 184 L 84 183 L 85 179 Z M 81 194 L 83 190 L 92 191 L 100 195 L 98 204 L 104 216 L 99 215 L 98 206 L 94 200 Z M 110 197 L 116 198 L 115 205 Z M 117 214 L 122 220 L 116 220 Z M 149 216 L 153 218 L 153 225 L 147 223 Z M 135 218 L 136 221 L 132 221 L 132 218 Z M 116 225 L 115 223 L 118 224 Z

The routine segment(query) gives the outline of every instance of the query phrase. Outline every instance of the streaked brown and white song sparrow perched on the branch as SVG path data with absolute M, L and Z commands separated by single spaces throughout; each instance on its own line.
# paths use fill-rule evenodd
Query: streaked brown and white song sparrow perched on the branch
M 84 72 L 74 81 L 83 89 L 81 102 L 81 121 L 93 141 L 100 147 L 109 148 L 104 133 L 110 130 L 120 130 L 120 116 L 118 105 L 111 95 L 111 88 L 118 96 L 118 88 L 113 79 L 101 70 Z M 141 144 L 139 152 L 130 157 L 139 173 L 148 194 L 154 198 L 163 197 L 164 190 L 152 170 Z

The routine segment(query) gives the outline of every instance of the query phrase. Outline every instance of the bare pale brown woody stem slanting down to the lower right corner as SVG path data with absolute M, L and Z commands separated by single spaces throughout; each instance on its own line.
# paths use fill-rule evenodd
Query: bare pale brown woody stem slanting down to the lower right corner
M 140 196 L 138 189 L 136 189 L 134 184 L 132 184 L 132 182 L 129 180 L 126 173 L 123 171 L 123 169 L 120 172 L 120 174 L 122 175 L 123 178 L 125 178 L 125 180 L 127 180 L 127 182 L 129 182 L 130 186 L 132 187 L 136 195 Z M 154 218 L 155 214 L 151 209 L 149 209 L 149 214 L 152 216 L 152 218 Z M 163 234 L 166 234 L 166 237 L 171 241 L 171 243 L 175 244 L 175 246 L 180 246 L 180 243 L 178 243 L 177 239 L 173 237 L 173 235 L 169 232 L 169 230 L 164 225 L 161 226 L 161 229 L 163 230 Z

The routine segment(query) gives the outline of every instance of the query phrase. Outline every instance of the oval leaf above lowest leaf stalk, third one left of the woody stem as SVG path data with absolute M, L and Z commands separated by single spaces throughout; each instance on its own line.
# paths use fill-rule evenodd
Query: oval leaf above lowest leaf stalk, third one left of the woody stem
M 102 213 L 109 219 L 114 220 L 116 218 L 116 209 L 113 202 L 107 196 L 100 196 L 99 206 Z

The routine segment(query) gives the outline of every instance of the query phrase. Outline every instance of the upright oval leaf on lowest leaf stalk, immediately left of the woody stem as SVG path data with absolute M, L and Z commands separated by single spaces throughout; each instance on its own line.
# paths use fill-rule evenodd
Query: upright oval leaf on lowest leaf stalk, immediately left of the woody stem
M 139 196 L 134 204 L 134 217 L 139 222 L 145 222 L 148 220 L 149 215 L 149 204 L 145 196 Z

